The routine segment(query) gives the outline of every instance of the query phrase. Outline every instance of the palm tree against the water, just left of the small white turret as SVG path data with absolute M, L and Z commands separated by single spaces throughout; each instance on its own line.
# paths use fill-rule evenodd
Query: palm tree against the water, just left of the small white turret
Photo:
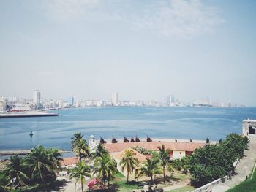
M 79 156 L 79 161 L 82 161 L 82 158 L 89 158 L 89 145 L 86 140 L 83 139 L 83 135 L 81 133 L 77 133 L 74 134 L 74 137 L 71 137 L 71 139 L 72 153 L 76 153 Z

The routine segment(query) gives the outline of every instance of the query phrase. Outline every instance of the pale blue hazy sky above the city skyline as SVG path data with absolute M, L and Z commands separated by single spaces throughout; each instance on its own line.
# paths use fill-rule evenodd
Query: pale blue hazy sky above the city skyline
M 256 106 L 256 1 L 0 0 L 0 95 Z

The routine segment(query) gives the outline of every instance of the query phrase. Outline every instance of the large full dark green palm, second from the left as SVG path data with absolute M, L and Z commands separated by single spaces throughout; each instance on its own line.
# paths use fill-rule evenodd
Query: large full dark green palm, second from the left
M 45 186 L 45 177 L 48 174 L 55 175 L 54 173 L 54 164 L 49 161 L 48 155 L 45 152 L 45 148 L 42 145 L 34 147 L 31 150 L 31 153 L 25 157 L 26 164 L 29 166 L 31 171 L 32 178 L 39 175 L 39 178 L 42 180 L 42 184 Z

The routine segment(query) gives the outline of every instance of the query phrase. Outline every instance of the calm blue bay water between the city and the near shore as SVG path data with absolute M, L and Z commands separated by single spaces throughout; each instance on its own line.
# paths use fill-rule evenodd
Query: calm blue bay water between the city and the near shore
M 45 147 L 70 149 L 70 137 L 82 132 L 111 139 L 140 138 L 225 139 L 241 134 L 242 120 L 256 119 L 256 107 L 103 107 L 59 110 L 58 117 L 1 118 L 0 150 Z M 33 131 L 30 139 L 29 133 Z

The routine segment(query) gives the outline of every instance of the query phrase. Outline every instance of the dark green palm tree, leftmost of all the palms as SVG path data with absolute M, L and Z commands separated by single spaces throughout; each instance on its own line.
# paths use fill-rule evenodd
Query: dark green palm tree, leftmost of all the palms
M 24 180 L 29 180 L 29 177 L 25 173 L 22 158 L 18 155 L 11 157 L 11 163 L 7 164 L 5 172 L 7 174 L 7 180 L 14 180 L 15 183 L 18 183 L 20 191 L 21 186 L 25 185 Z

